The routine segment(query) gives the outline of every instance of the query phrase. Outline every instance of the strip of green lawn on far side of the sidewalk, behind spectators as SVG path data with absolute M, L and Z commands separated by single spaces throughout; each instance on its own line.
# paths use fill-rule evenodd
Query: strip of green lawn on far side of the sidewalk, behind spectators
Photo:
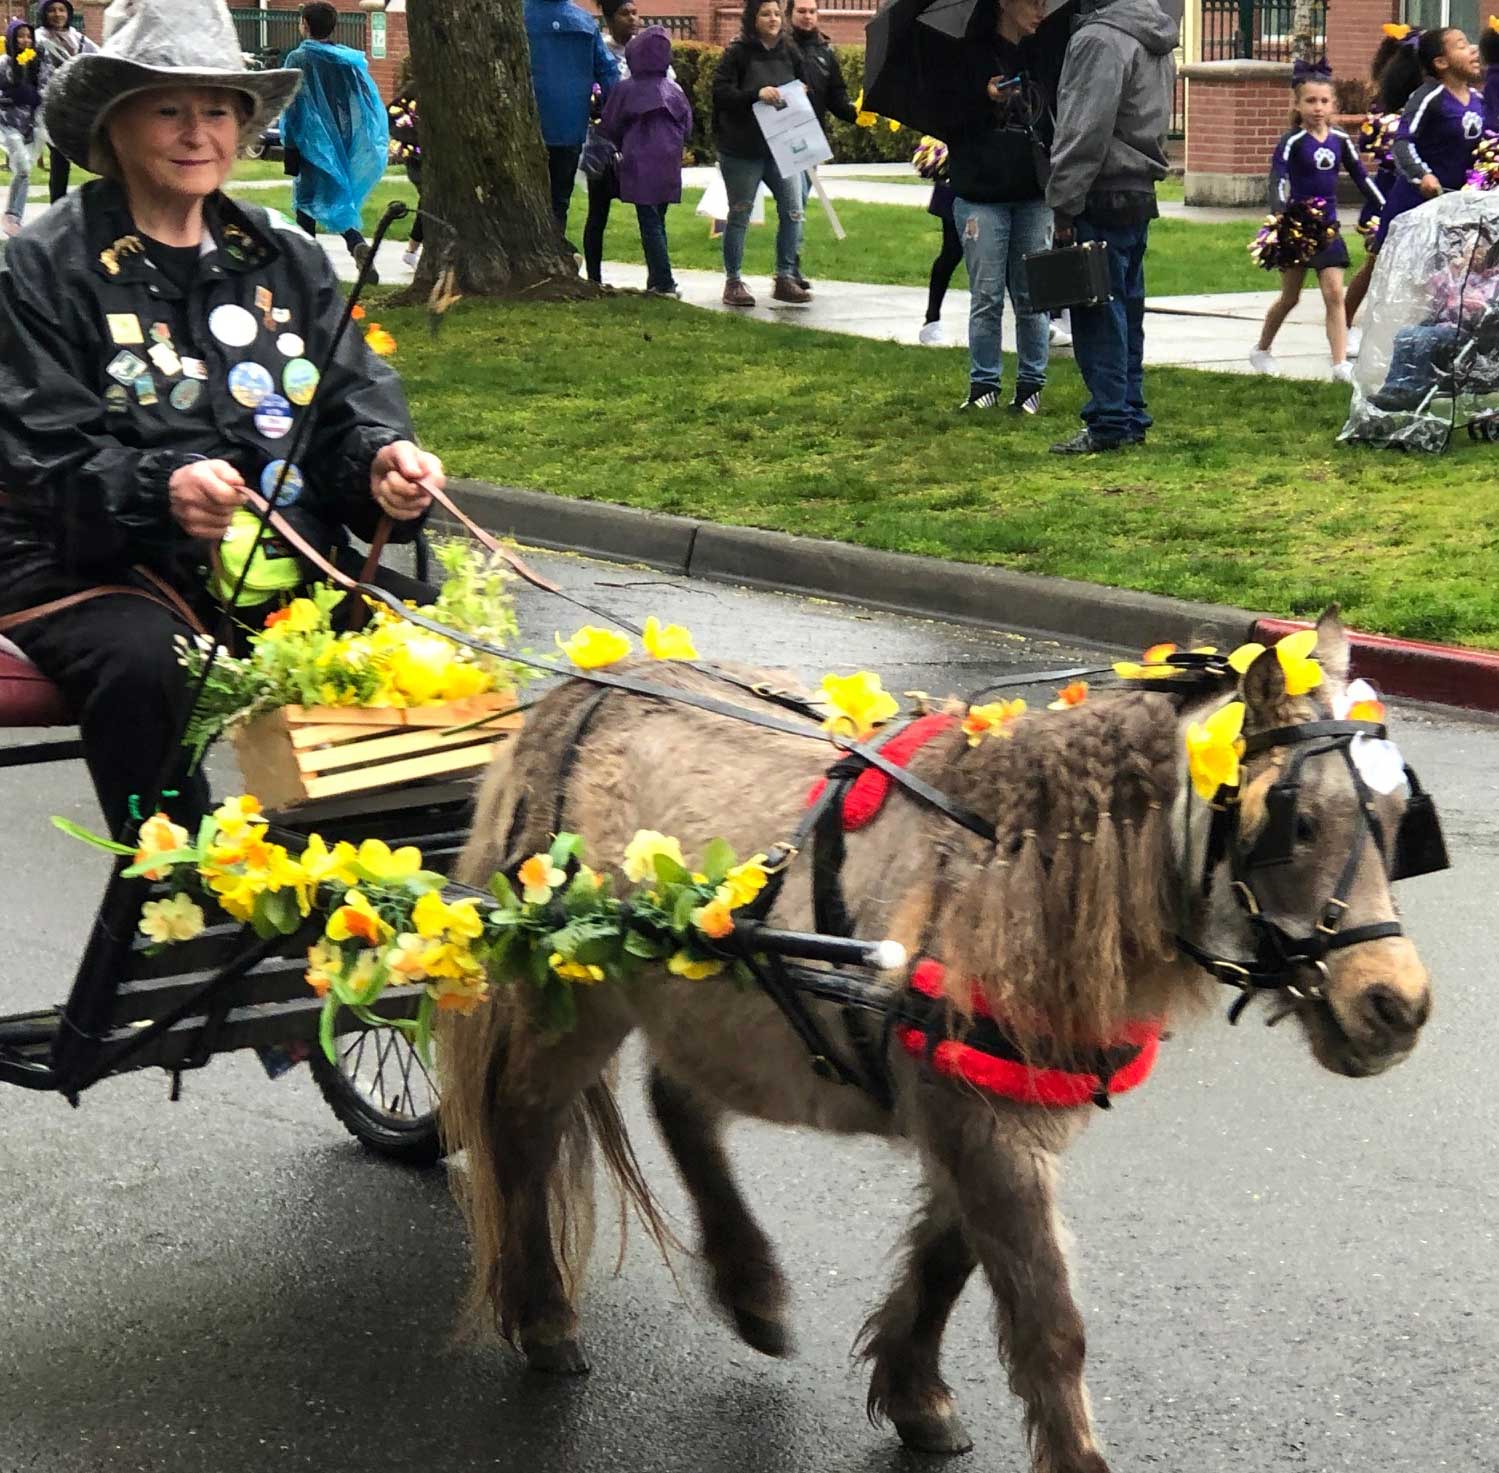
M 391 199 L 415 204 L 415 190 L 405 181 L 381 184 L 364 205 L 364 226 L 375 228 L 381 211 Z M 246 195 L 253 204 L 274 207 L 291 214 L 291 189 L 258 189 Z M 667 235 L 672 264 L 684 270 L 721 271 L 723 247 L 709 240 L 708 220 L 693 211 L 702 190 L 687 190 L 682 204 L 667 214 Z M 808 201 L 806 237 L 802 264 L 814 280 L 874 282 L 877 285 L 925 286 L 932 256 L 941 243 L 937 220 L 925 210 L 910 205 L 866 205 L 838 199 L 833 204 L 848 238 L 833 238 L 827 216 L 815 198 Z M 573 195 L 568 226 L 574 241 L 583 235 L 588 196 L 582 189 Z M 1234 220 L 1226 225 L 1196 225 L 1186 220 L 1157 220 L 1150 232 L 1150 255 L 1145 277 L 1153 297 L 1175 297 L 1189 292 L 1253 292 L 1268 291 L 1271 277 L 1253 267 L 1246 244 L 1253 235 L 1252 222 Z M 399 220 L 391 240 L 405 240 L 411 222 Z M 750 231 L 745 270 L 751 276 L 769 276 L 775 238 L 775 205 L 766 207 L 766 225 Z M 604 235 L 606 261 L 643 262 L 640 232 L 631 205 L 615 202 Z M 967 273 L 959 267 L 955 286 L 967 285 Z

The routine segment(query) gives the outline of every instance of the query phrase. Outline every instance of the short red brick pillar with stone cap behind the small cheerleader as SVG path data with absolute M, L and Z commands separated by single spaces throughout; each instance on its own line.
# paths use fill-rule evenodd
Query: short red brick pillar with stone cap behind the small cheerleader
M 1291 63 L 1192 61 L 1181 75 L 1187 79 L 1187 204 L 1262 204 L 1270 150 L 1291 121 Z

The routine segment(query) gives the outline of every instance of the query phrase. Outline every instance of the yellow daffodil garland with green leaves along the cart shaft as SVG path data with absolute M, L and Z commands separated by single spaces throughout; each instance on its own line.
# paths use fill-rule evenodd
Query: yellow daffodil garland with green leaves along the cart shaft
M 54 818 L 57 827 L 126 856 L 126 875 L 160 881 L 169 895 L 141 908 L 138 929 L 154 946 L 189 941 L 205 926 L 199 901 L 213 901 L 256 935 L 292 935 L 309 917 L 321 935 L 307 949 L 307 986 L 324 999 L 321 1040 L 334 1058 L 340 1007 L 370 1025 L 400 1028 L 429 1050 L 439 1010 L 466 1013 L 489 995 L 490 979 L 529 983 L 549 1028 L 574 1020 L 574 986 L 634 976 L 664 964 L 676 977 L 714 977 L 736 964 L 714 943 L 735 931 L 736 911 L 764 889 L 766 856 L 739 862 L 721 839 L 688 869 L 670 835 L 642 830 L 621 868 L 628 889 L 583 863 L 583 842 L 561 833 L 517 866 L 498 874 L 489 895 L 448 899 L 442 875 L 423 868 L 420 850 L 379 839 L 331 848 L 310 835 L 301 854 L 268 838 L 261 805 L 232 797 L 190 836 L 165 814 L 141 826 L 132 848 Z M 414 1019 L 372 1011 L 390 984 L 420 983 Z

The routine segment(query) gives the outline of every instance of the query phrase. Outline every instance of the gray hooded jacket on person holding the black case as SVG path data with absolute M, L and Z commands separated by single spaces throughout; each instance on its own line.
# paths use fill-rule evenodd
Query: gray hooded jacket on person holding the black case
M 1180 27 L 1156 0 L 1087 7 L 1057 87 L 1046 204 L 1058 225 L 1148 220 L 1166 166 Z

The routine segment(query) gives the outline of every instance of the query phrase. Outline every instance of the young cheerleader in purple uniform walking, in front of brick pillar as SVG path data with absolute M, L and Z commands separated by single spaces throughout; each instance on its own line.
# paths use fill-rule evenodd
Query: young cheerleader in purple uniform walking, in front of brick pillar
M 1333 354 L 1333 378 L 1340 384 L 1352 381 L 1348 366 L 1348 322 L 1343 318 L 1343 270 L 1348 267 L 1348 246 L 1337 228 L 1337 171 L 1349 177 L 1375 208 L 1384 207 L 1384 195 L 1364 171 L 1352 138 L 1333 127 L 1333 73 L 1325 61 L 1297 61 L 1292 73 L 1297 126 L 1288 132 L 1270 159 L 1270 207 L 1286 210 L 1297 201 L 1319 201 L 1322 216 L 1331 226 L 1331 238 L 1307 259 L 1280 271 L 1280 297 L 1270 304 L 1259 343 L 1249 355 L 1256 373 L 1279 373 L 1271 357 L 1271 345 L 1280 324 L 1301 298 L 1307 271 L 1316 271 L 1316 283 L 1327 309 L 1327 343 Z

